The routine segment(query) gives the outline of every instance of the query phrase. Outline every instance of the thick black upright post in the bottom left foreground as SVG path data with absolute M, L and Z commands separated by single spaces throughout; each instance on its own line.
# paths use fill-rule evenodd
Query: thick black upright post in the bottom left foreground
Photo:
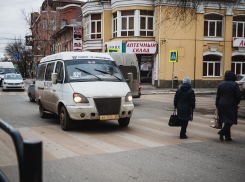
M 24 178 L 28 182 L 42 182 L 42 141 L 24 141 Z

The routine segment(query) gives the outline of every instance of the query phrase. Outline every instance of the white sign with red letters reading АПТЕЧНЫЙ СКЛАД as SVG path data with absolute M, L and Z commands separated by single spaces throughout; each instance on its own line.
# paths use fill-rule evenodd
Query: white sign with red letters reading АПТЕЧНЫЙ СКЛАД
M 126 41 L 126 53 L 157 54 L 156 41 Z

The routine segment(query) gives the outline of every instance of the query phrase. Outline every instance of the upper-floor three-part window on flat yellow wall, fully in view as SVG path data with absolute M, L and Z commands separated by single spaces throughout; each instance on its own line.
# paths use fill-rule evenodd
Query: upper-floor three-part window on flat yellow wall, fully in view
M 222 37 L 223 16 L 207 14 L 204 16 L 204 36 Z

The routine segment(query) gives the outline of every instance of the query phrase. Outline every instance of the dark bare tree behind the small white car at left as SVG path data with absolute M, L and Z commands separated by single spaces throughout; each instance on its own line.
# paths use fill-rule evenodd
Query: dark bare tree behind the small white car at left
M 11 43 L 8 43 L 5 47 L 5 52 L 11 56 L 23 76 L 28 76 L 28 69 L 31 70 L 33 65 L 33 58 L 31 50 L 25 46 L 24 41 L 21 38 L 14 38 Z M 21 56 L 16 58 L 14 54 L 20 54 Z

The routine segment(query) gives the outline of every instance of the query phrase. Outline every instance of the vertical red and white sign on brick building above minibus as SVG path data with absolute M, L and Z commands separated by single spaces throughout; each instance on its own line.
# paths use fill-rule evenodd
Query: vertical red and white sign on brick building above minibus
M 82 27 L 73 27 L 73 51 L 82 52 Z

